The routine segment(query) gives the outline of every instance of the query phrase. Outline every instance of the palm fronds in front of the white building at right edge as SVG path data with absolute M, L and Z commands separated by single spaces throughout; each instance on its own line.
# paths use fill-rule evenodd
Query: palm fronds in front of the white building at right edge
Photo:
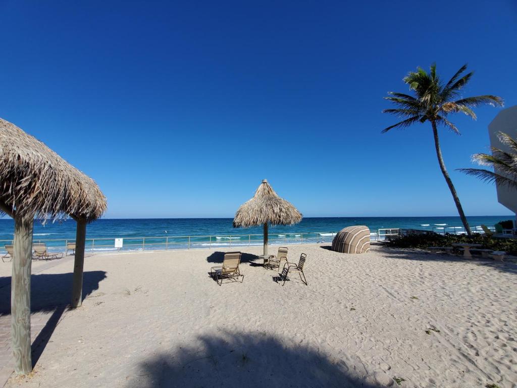
M 467 175 L 478 177 L 483 182 L 497 183 L 517 189 L 517 141 L 509 135 L 499 132 L 499 141 L 506 144 L 509 152 L 505 152 L 496 147 L 490 147 L 492 155 L 474 154 L 472 161 L 481 166 L 493 167 L 494 171 L 486 169 L 458 169 Z

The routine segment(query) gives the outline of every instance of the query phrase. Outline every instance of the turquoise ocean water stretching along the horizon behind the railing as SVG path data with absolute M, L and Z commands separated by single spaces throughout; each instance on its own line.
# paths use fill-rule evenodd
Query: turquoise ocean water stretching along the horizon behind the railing
M 468 217 L 470 227 L 493 226 L 511 216 Z M 123 238 L 123 249 L 173 249 L 260 244 L 262 227 L 236 229 L 232 218 L 171 218 L 171 219 L 100 219 L 87 227 L 87 249 L 115 250 L 114 238 Z M 436 232 L 461 233 L 459 217 L 319 217 L 303 218 L 290 227 L 270 227 L 271 244 L 331 242 L 332 233 L 351 225 L 366 225 L 371 232 L 384 228 L 422 229 Z M 0 247 L 12 240 L 12 219 L 0 219 Z M 188 237 L 192 236 L 190 243 Z M 145 237 L 145 240 L 144 238 Z M 92 240 L 94 239 L 94 240 Z M 100 240 L 107 239 L 107 240 Z M 54 250 L 64 247 L 66 240 L 75 240 L 75 222 L 34 224 L 34 241 L 45 240 Z

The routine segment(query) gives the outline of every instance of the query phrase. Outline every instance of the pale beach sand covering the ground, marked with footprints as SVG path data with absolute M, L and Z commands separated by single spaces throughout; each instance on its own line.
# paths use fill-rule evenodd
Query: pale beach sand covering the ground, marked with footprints
M 307 253 L 309 286 L 245 262 L 242 284 L 219 287 L 214 250 L 87 258 L 87 287 L 88 272 L 107 277 L 57 325 L 33 376 L 7 386 L 515 386 L 516 264 L 289 250 Z

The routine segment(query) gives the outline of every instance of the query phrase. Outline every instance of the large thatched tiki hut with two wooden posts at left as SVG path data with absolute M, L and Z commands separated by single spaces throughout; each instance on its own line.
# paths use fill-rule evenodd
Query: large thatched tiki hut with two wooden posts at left
M 86 224 L 107 202 L 97 184 L 42 142 L 0 118 L 0 215 L 14 219 L 11 335 L 14 369 L 32 370 L 31 263 L 34 219 L 77 221 L 72 307 L 81 305 Z

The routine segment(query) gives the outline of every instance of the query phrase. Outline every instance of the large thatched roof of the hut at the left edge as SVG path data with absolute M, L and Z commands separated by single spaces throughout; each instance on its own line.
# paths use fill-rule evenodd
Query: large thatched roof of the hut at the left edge
M 99 218 L 107 201 L 95 181 L 45 144 L 0 118 L 0 214 Z

